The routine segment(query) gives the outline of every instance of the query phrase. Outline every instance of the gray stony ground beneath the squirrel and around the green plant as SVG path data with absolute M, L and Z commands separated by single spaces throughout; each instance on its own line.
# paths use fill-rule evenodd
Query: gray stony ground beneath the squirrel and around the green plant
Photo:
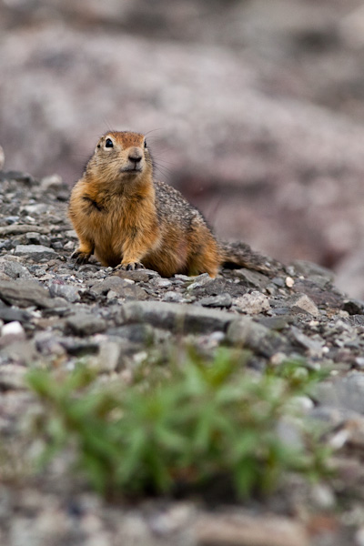
M 160 278 L 96 261 L 76 268 L 69 189 L 59 177 L 0 171 L 0 195 L 2 546 L 364 544 L 363 302 L 346 298 L 329 270 L 305 261 L 271 262 L 269 277 L 242 268 L 216 279 Z M 244 346 L 258 372 L 286 358 L 328 369 L 329 379 L 299 403 L 328 426 L 335 478 L 288 480 L 268 500 L 213 511 L 188 499 L 107 504 L 65 478 L 62 460 L 25 478 L 16 438 L 36 408 L 27 369 L 73 369 L 84 359 L 105 379 L 127 380 L 147 347 L 176 336 L 207 352 Z

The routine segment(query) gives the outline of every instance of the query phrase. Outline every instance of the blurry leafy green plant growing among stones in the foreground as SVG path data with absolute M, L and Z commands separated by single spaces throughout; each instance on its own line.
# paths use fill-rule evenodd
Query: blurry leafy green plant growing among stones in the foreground
M 209 363 L 187 353 L 165 374 L 150 369 L 117 389 L 100 386 L 96 372 L 83 366 L 62 379 L 34 369 L 27 381 L 45 406 L 38 420 L 43 462 L 73 443 L 77 467 L 105 495 L 173 492 L 181 484 L 204 490 L 224 477 L 244 497 L 271 490 L 286 470 L 320 475 L 325 469 L 302 420 L 298 446 L 277 433 L 309 374 L 291 368 L 281 377 L 272 370 L 256 374 L 228 349 Z

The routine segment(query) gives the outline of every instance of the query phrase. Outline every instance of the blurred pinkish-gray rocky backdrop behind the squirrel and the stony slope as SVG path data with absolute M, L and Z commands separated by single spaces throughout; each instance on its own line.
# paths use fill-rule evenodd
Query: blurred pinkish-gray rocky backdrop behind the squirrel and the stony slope
M 364 298 L 364 2 L 0 0 L 5 169 L 71 186 L 108 128 L 218 236 Z

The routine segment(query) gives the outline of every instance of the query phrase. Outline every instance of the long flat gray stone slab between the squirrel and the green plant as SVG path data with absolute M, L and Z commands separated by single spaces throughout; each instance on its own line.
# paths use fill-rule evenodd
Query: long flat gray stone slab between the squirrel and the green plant
M 159 301 L 126 303 L 120 309 L 118 322 L 147 322 L 157 328 L 175 332 L 207 333 L 225 330 L 235 319 L 233 314 L 199 306 Z

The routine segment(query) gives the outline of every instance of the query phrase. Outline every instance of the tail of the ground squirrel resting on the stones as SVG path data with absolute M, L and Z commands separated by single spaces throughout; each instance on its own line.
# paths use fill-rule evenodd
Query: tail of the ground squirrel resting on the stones
M 246 243 L 219 241 L 221 265 L 225 268 L 248 268 L 270 276 L 278 263 L 254 252 Z

